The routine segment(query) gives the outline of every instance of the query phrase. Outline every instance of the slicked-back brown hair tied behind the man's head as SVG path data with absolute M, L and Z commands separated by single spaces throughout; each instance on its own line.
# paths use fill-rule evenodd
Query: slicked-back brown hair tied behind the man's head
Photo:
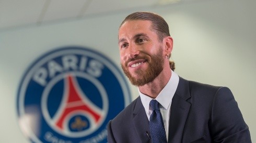
M 123 22 L 120 24 L 120 27 L 124 24 L 126 21 L 132 21 L 132 20 L 148 20 L 152 22 L 152 29 L 157 33 L 159 41 L 162 42 L 164 37 L 170 36 L 169 32 L 169 26 L 164 18 L 161 16 L 153 13 L 153 12 L 134 12 L 127 16 Z M 119 28 L 120 28 L 119 27 Z M 170 56 L 169 56 L 170 58 Z M 174 71 L 175 69 L 175 63 L 174 61 L 170 62 L 170 68 Z

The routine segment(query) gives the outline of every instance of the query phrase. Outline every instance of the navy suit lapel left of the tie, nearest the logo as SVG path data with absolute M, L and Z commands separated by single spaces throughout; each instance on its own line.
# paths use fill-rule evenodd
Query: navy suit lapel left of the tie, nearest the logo
M 149 137 L 146 134 L 146 132 L 148 132 L 148 135 L 150 136 L 149 121 L 140 97 L 136 99 L 136 104 L 133 110 L 133 123 L 141 142 L 149 142 Z

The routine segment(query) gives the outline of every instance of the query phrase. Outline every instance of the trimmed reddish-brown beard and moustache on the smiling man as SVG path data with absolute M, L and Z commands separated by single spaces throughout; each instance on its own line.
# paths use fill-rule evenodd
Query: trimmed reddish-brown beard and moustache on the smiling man
M 148 68 L 146 70 L 137 70 L 135 74 L 138 77 L 133 77 L 127 68 L 127 63 L 137 59 L 146 59 L 149 63 Z M 152 82 L 156 77 L 162 72 L 164 69 L 164 58 L 162 57 L 162 47 L 159 47 L 159 50 L 155 55 L 151 56 L 151 62 L 149 62 L 148 56 L 137 56 L 125 62 L 125 64 L 121 64 L 124 74 L 128 77 L 130 82 L 135 86 L 143 86 L 147 83 Z

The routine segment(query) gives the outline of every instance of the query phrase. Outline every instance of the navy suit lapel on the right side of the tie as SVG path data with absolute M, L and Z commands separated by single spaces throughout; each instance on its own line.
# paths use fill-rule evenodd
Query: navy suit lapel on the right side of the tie
M 180 77 L 179 84 L 172 98 L 168 142 L 181 142 L 183 129 L 190 110 L 189 82 Z

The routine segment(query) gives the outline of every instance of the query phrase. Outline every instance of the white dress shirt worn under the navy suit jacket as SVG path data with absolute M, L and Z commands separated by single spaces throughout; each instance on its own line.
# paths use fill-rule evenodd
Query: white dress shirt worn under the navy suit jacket
M 156 100 L 159 102 L 160 112 L 162 114 L 162 118 L 165 124 L 165 132 L 168 141 L 168 133 L 169 133 L 169 119 L 170 119 L 170 108 L 171 101 L 176 92 L 176 89 L 179 84 L 179 76 L 177 73 L 171 70 L 171 77 L 166 86 L 161 90 L 161 92 L 157 95 Z M 149 96 L 144 95 L 139 90 L 139 96 L 141 97 L 142 104 L 145 108 L 147 118 L 149 121 L 150 115 L 152 114 L 152 109 L 149 106 L 149 102 L 153 99 Z

